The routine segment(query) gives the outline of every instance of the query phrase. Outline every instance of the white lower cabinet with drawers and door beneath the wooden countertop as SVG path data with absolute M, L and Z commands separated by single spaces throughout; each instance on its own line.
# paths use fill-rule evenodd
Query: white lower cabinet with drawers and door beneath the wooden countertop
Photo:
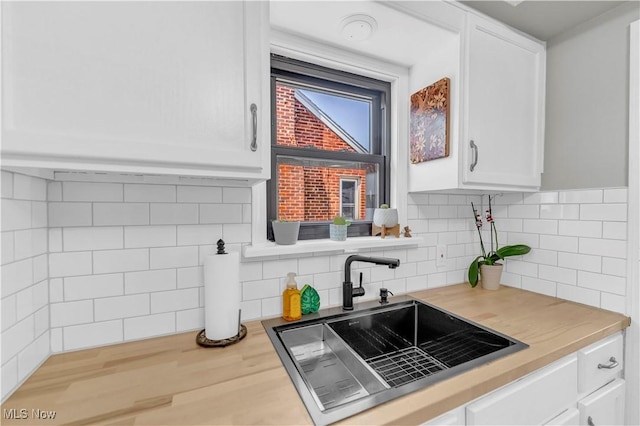
M 616 333 L 423 425 L 623 425 Z

